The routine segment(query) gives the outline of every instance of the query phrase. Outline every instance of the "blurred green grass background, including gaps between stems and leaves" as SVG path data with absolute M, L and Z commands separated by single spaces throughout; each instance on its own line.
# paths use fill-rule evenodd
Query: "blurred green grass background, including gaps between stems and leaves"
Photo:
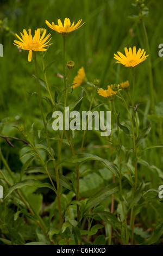
M 114 53 L 117 51 L 124 53 L 124 47 L 136 46 L 137 50 L 138 48 L 144 48 L 146 51 L 140 21 L 129 17 L 138 14 L 137 9 L 132 5 L 133 2 L 134 0 L 1 0 L 0 20 L 2 21 L 0 23 L 0 44 L 3 44 L 4 53 L 3 57 L 0 58 L 0 120 L 9 118 L 3 129 L 3 135 L 22 138 L 20 133 L 18 133 L 13 126 L 17 126 L 19 123 L 23 122 L 26 123 L 27 130 L 34 122 L 35 132 L 42 127 L 37 95 L 33 94 L 37 91 L 36 79 L 33 76 L 33 74 L 35 74 L 34 60 L 32 59 L 32 62 L 29 63 L 28 51 L 22 50 L 22 53 L 18 51 L 17 47 L 13 44 L 16 39 L 14 33 L 20 35 L 23 29 L 28 30 L 28 28 L 31 28 L 34 34 L 34 30 L 41 27 L 46 28 L 47 33 L 52 34 L 51 41 L 53 44 L 46 52 L 45 62 L 46 65 L 48 65 L 55 60 L 53 65 L 47 69 L 48 82 L 52 88 L 53 95 L 57 87 L 64 88 L 64 81 L 57 76 L 57 73 L 62 74 L 62 38 L 60 34 L 47 27 L 45 20 L 48 20 L 50 23 L 52 23 L 52 21 L 57 23 L 58 19 L 64 21 L 65 17 L 70 18 L 72 22 L 73 20 L 78 22 L 79 19 L 83 19 L 83 22 L 85 22 L 81 28 L 72 32 L 66 39 L 66 62 L 71 59 L 75 62 L 75 68 L 72 70 L 70 81 L 73 81 L 74 76 L 77 75 L 78 69 L 84 66 L 88 81 L 93 82 L 95 78 L 99 78 L 101 79 L 101 87 L 104 89 L 106 89 L 108 84 L 121 83 L 126 80 L 129 80 L 131 84 L 130 70 L 121 64 L 116 64 L 113 57 Z M 155 105 L 159 106 L 160 123 L 158 123 L 161 129 L 163 57 L 160 58 L 158 56 L 158 46 L 159 44 L 163 44 L 163 2 L 162 0 L 148 0 L 146 1 L 146 5 L 149 8 L 149 15 L 145 17 L 145 23 L 151 48 L 154 99 Z M 40 53 L 38 53 L 37 56 L 39 75 L 40 78 L 43 79 Z M 152 120 L 148 119 L 151 101 L 147 60 L 136 67 L 135 76 L 135 102 L 140 103 L 141 112 L 139 118 L 141 131 L 148 125 L 149 121 Z M 41 90 L 43 95 L 47 95 L 43 87 L 41 87 Z M 80 91 L 81 88 L 74 90 L 70 95 L 70 99 L 72 101 L 77 99 Z M 96 97 L 98 103 L 99 101 L 100 103 L 106 102 L 101 96 L 97 95 Z M 126 113 L 124 113 L 124 109 L 118 103 L 118 99 L 115 99 L 115 103 L 117 112 L 120 111 L 121 116 L 125 118 Z M 49 105 L 43 103 L 43 107 L 45 113 L 49 113 Z M 89 102 L 84 100 L 82 109 L 86 110 L 88 108 Z M 113 117 L 112 123 L 114 123 L 114 121 Z M 152 132 L 154 136 L 151 132 L 149 138 L 147 138 L 147 142 L 143 144 L 143 147 L 148 147 L 152 145 L 152 143 L 162 143 L 160 141 L 162 133 L 159 133 L 157 128 L 157 123 L 155 125 L 155 121 L 152 120 Z M 53 135 L 53 137 L 55 136 L 52 129 L 51 135 Z M 80 133 L 80 135 L 82 137 L 82 133 Z M 154 142 L 151 139 L 152 136 L 154 137 Z M 77 145 L 76 149 L 80 148 L 81 137 L 76 136 L 74 139 Z M 121 140 L 127 148 L 130 147 L 131 140 L 129 140 L 126 135 L 123 134 Z M 91 148 L 92 145 L 107 143 L 104 138 L 97 137 L 96 133 L 87 132 L 85 141 L 86 144 L 89 145 L 87 153 L 102 156 L 110 161 L 116 159 L 115 149 L 111 152 L 108 148 Z M 55 147 L 54 144 L 52 145 L 53 148 Z M 22 143 L 14 141 L 14 145 L 16 150 L 10 148 L 9 145 L 1 139 L 1 148 L 3 149 L 5 158 L 8 160 L 9 165 L 12 166 L 12 170 L 19 172 L 22 162 L 18 161 L 18 150 L 21 148 Z M 65 147 L 64 157 L 71 157 L 71 155 L 70 150 Z M 156 149 L 154 151 L 149 150 L 144 155 L 149 163 L 154 164 L 157 168 L 162 168 L 162 149 Z M 36 162 L 36 165 L 39 165 L 39 163 Z M 68 172 L 69 167 L 64 166 L 64 168 Z M 112 179 L 108 170 L 101 170 L 96 164 L 92 166 L 92 163 L 89 162 L 85 169 L 88 173 L 93 169 L 93 172 L 89 175 L 87 175 L 87 173 L 83 174 L 83 176 L 85 175 L 85 180 L 83 179 L 83 181 L 81 179 L 80 182 L 80 192 L 82 192 L 82 196 L 87 197 L 90 196 L 90 191 L 91 193 L 97 191 L 99 187 L 103 186 L 103 179 L 106 184 L 108 180 Z M 152 184 L 149 185 L 149 188 L 158 188 L 158 185 L 161 185 L 162 181 L 162 172 L 160 169 L 151 167 L 149 171 L 148 167 L 139 165 L 139 178 L 145 179 L 146 181 L 151 180 Z M 82 173 L 83 169 L 80 171 Z M 101 172 L 103 179 L 99 179 L 99 175 L 97 175 L 99 174 L 98 172 Z M 158 175 L 159 172 L 160 176 Z M 106 176 L 106 174 L 108 176 Z M 107 204 L 109 203 L 107 202 Z M 146 228 L 148 228 L 150 221 L 155 222 L 155 220 L 158 219 L 155 218 L 154 211 L 152 211 L 151 208 L 147 207 L 146 210 L 148 212 Z M 145 211 L 142 211 L 140 215 L 142 218 L 141 221 L 143 222 Z

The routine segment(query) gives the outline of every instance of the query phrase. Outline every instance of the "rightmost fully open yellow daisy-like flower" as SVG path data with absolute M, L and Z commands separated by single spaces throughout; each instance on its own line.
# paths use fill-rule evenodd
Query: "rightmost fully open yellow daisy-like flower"
M 141 50 L 141 48 L 139 48 L 139 50 L 136 53 L 135 46 L 133 47 L 133 51 L 131 47 L 129 48 L 129 51 L 127 47 L 124 48 L 124 51 L 126 53 L 126 56 L 124 56 L 121 52 L 118 52 L 119 56 L 114 54 L 114 58 L 117 60 L 116 63 L 121 63 L 124 66 L 134 67 L 139 63 L 143 62 L 148 57 L 144 49 Z

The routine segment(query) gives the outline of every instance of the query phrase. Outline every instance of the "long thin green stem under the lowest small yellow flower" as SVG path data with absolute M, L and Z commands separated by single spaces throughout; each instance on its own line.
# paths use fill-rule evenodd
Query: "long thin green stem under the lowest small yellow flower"
M 121 138 L 120 138 L 120 129 L 118 126 L 118 119 L 117 119 L 117 113 L 116 113 L 116 108 L 114 101 L 112 101 L 112 107 L 115 113 L 116 117 L 116 125 L 117 125 L 117 132 L 118 132 L 118 144 L 121 144 Z M 119 184 L 120 184 L 120 194 L 121 194 L 121 205 L 122 205 L 122 211 L 123 211 L 123 216 L 124 216 L 124 222 L 125 222 L 125 229 L 126 229 L 126 243 L 128 244 L 128 228 L 127 228 L 127 217 L 126 217 L 126 212 L 124 210 L 124 204 L 123 204 L 123 198 L 122 198 L 122 169 L 121 169 L 121 156 L 120 153 L 118 153 L 118 162 L 119 162 L 119 171 L 120 171 L 120 177 L 119 177 Z

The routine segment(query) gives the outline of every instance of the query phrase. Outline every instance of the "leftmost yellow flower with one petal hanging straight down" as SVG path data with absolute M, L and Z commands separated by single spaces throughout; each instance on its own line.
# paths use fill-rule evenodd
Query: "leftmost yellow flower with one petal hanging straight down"
M 20 39 L 20 41 L 14 40 L 15 42 L 14 45 L 20 47 L 23 50 L 29 51 L 28 61 L 30 62 L 32 59 L 33 51 L 46 51 L 47 49 L 45 49 L 44 47 L 51 45 L 51 44 L 48 44 L 48 42 L 51 39 L 47 41 L 47 39 L 49 38 L 49 36 L 51 36 L 51 34 L 48 34 L 46 38 L 44 38 L 46 34 L 46 29 L 45 29 L 45 31 L 43 31 L 43 34 L 41 35 L 41 38 L 40 38 L 40 28 L 37 28 L 37 30 L 35 31 L 34 37 L 31 34 L 31 29 L 28 29 L 28 32 L 29 34 L 27 33 L 26 29 L 23 29 L 24 34 L 21 33 L 22 38 L 20 38 L 20 36 L 15 34 L 17 38 Z

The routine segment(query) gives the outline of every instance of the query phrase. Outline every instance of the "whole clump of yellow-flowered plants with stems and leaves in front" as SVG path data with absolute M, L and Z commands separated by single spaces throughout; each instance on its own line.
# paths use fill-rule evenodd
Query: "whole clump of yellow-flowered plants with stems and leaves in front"
M 134 7 L 139 10 L 138 18 L 142 22 L 147 11 L 145 1 L 136 0 Z M 143 86 L 137 82 L 141 75 L 135 73 L 141 66 L 147 66 L 147 61 L 150 64 L 149 44 L 141 49 L 142 42 L 139 44 L 134 40 L 136 46 L 133 46 L 130 41 L 132 47 L 125 47 L 122 52 L 117 51 L 116 44 L 112 45 L 109 48 L 112 56 L 109 55 L 106 62 L 108 77 L 101 77 L 103 66 L 96 65 L 98 72 L 96 69 L 92 72 L 95 64 L 89 70 L 90 62 L 79 63 L 79 58 L 73 58 L 66 47 L 71 33 L 75 36 L 76 30 L 85 29 L 87 22 L 80 19 L 75 23 L 65 18 L 63 22 L 58 19 L 57 23 L 46 20 L 45 26 L 54 33 L 54 40 L 45 28 L 36 28 L 33 32 L 23 29 L 21 36 L 15 34 L 13 40 L 22 51 L 29 51 L 26 62 L 30 62 L 28 67 L 35 70 L 28 78 L 28 81 L 34 81 L 35 90 L 29 93 L 29 99 L 37 97 L 37 100 L 29 113 L 35 121 L 30 124 L 30 129 L 17 116 L 17 121 L 13 122 L 15 131 L 22 138 L 0 134 L 1 141 L 8 143 L 5 147 L 14 149 L 16 142 L 23 144 L 20 172 L 10 167 L 3 144 L 0 145 L 0 186 L 4 186 L 4 198 L 0 199 L 0 244 L 155 244 L 163 234 L 162 202 L 156 188 L 150 187 L 149 180 L 154 179 L 156 184 L 156 175 L 160 180 L 163 176 L 161 169 L 150 163 L 152 159 L 148 162 L 146 158 L 149 158 L 150 150 L 162 150 L 162 105 L 155 106 L 156 115 L 154 111 L 152 115 L 147 113 L 149 105 L 144 111 L 145 96 L 138 97 L 137 93 Z M 62 42 L 57 53 L 56 38 Z M 74 40 L 74 44 L 77 42 Z M 114 52 L 117 53 L 113 56 Z M 54 59 L 55 54 L 58 54 L 58 62 Z M 48 65 L 47 55 L 51 58 Z M 98 57 L 103 63 L 104 55 L 101 53 Z M 94 61 L 96 56 L 92 58 Z M 79 65 L 83 66 L 78 69 Z M 122 65 L 125 68 L 121 70 Z M 48 76 L 48 69 L 52 67 L 53 72 Z M 81 112 L 85 113 L 84 125 Z M 111 113 L 111 132 L 101 136 L 101 126 L 108 125 L 105 113 Z M 97 117 L 99 129 L 89 130 L 90 119 L 93 125 Z M 150 144 L 153 136 L 150 118 L 157 125 L 154 132 L 161 143 L 155 144 L 153 140 Z M 55 124 L 61 124 L 55 129 L 54 119 Z M 69 129 L 72 121 L 75 128 Z M 6 123 L 7 119 L 0 123 L 0 133 Z M 145 166 L 150 173 L 148 169 L 144 171 Z M 152 215 L 149 214 L 148 219 L 147 209 L 149 212 L 154 210 L 159 218 L 158 226 L 149 221 Z M 160 209 L 159 214 L 156 209 Z

